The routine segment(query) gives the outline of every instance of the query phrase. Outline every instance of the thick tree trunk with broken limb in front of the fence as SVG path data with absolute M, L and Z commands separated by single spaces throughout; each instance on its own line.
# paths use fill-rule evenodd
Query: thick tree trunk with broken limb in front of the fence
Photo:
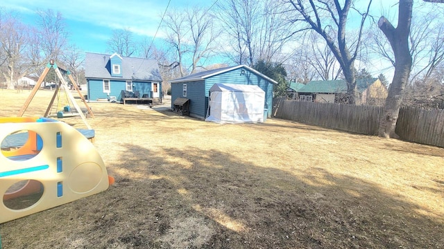
M 379 120 L 379 136 L 398 138 L 395 133 L 396 121 L 401 107 L 404 88 L 409 81 L 411 71 L 411 55 L 409 50 L 409 33 L 413 0 L 400 0 L 398 27 L 381 17 L 378 26 L 386 35 L 395 54 L 395 75 L 388 89 L 388 96 L 381 120 Z

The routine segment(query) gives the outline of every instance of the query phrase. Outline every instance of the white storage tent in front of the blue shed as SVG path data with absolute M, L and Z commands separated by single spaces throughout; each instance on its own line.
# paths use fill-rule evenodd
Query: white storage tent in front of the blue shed
M 264 122 L 265 92 L 255 85 L 214 84 L 205 121 Z

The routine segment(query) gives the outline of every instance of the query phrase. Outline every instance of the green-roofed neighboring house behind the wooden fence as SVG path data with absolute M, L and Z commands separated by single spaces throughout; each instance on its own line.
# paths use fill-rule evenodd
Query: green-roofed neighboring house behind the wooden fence
M 359 100 L 357 104 L 384 104 L 388 91 L 377 78 L 356 80 Z M 299 89 L 300 101 L 339 103 L 347 93 L 345 80 L 319 80 L 308 82 Z

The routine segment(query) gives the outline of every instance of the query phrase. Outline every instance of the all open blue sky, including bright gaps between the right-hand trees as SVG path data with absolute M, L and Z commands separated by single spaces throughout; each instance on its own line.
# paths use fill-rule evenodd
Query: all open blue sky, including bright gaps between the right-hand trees
M 169 9 L 187 6 L 210 8 L 214 1 L 216 0 L 171 0 Z M 85 52 L 113 53 L 107 50 L 107 42 L 112 36 L 112 31 L 119 28 L 130 28 L 137 42 L 143 38 L 151 42 L 168 2 L 168 0 L 1 0 L 0 8 L 16 12 L 26 24 L 35 22 L 37 19 L 35 10 L 39 8 L 42 10 L 50 8 L 61 12 L 68 26 L 70 44 L 75 44 Z M 361 5 L 366 3 L 368 1 L 355 0 L 355 4 L 359 7 L 363 7 Z M 373 0 L 371 13 L 375 21 L 380 15 L 386 15 L 396 25 L 397 4 L 398 0 Z M 422 12 L 428 12 L 433 6 L 420 0 L 415 0 L 415 4 L 414 11 Z M 350 20 L 352 24 L 359 23 L 358 19 L 353 20 Z M 160 44 L 163 36 L 160 30 L 154 44 Z M 213 57 L 204 64 L 221 63 L 225 60 L 226 58 Z M 391 77 L 393 73 L 393 68 L 381 58 L 373 58 L 373 62 L 365 66 L 375 75 L 385 73 Z

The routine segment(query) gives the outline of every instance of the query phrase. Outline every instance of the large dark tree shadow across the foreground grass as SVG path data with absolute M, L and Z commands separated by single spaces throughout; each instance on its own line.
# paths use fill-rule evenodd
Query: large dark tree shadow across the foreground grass
M 110 190 L 1 225 L 7 231 L 2 233 L 3 245 L 444 246 L 443 223 L 420 214 L 422 207 L 358 178 L 333 175 L 321 167 L 296 173 L 262 167 L 237 158 L 235 151 L 124 147 L 124 156 L 110 167 L 116 178 Z

